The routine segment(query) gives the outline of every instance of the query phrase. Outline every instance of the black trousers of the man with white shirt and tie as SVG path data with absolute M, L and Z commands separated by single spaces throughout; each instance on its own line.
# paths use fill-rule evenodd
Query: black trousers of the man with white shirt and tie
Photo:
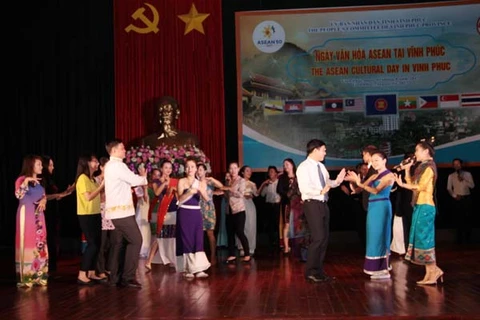
M 330 234 L 330 210 L 326 202 L 316 200 L 305 200 L 303 210 L 307 218 L 311 239 L 305 265 L 305 277 L 322 277 L 325 275 L 323 261 L 325 260 Z

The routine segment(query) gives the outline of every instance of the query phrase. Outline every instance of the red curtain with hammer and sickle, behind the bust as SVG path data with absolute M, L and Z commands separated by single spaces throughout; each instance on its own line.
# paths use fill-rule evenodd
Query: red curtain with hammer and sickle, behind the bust
M 155 101 L 172 96 L 181 112 L 178 128 L 199 138 L 218 177 L 225 169 L 222 2 L 148 3 L 158 12 L 157 33 L 125 31 L 130 25 L 146 27 L 140 19 L 132 18 L 140 8 L 145 9 L 147 19 L 154 20 L 144 1 L 115 2 L 115 132 L 126 142 L 156 132 Z M 189 13 L 192 3 L 198 13 L 209 14 L 202 22 L 204 34 L 197 30 L 185 34 L 185 23 L 178 18 Z

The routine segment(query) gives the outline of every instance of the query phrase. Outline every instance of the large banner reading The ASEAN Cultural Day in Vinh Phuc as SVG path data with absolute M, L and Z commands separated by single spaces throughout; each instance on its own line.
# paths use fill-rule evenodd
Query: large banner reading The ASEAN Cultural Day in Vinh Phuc
M 298 163 L 317 138 L 330 166 L 354 166 L 372 144 L 398 163 L 420 139 L 439 164 L 480 163 L 479 12 L 453 1 L 237 13 L 241 162 Z

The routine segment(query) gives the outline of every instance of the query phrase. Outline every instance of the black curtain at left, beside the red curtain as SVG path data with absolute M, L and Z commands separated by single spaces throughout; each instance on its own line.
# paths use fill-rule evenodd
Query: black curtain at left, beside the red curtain
M 47 154 L 64 189 L 80 154 L 114 136 L 113 1 L 11 2 L 3 62 L 9 103 L 0 146 L 0 245 L 12 249 L 14 182 L 27 154 Z M 13 14 L 15 13 L 15 14 Z M 4 29 L 6 30 L 6 29 Z M 75 193 L 59 202 L 60 235 L 80 239 Z

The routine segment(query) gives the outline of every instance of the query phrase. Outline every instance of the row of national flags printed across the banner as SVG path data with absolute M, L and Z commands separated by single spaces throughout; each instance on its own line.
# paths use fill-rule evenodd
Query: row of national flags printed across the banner
M 480 107 L 479 93 L 400 96 L 372 94 L 357 98 L 313 100 L 267 100 L 262 104 L 265 114 L 319 112 L 365 112 L 367 116 L 393 115 L 403 110 Z

